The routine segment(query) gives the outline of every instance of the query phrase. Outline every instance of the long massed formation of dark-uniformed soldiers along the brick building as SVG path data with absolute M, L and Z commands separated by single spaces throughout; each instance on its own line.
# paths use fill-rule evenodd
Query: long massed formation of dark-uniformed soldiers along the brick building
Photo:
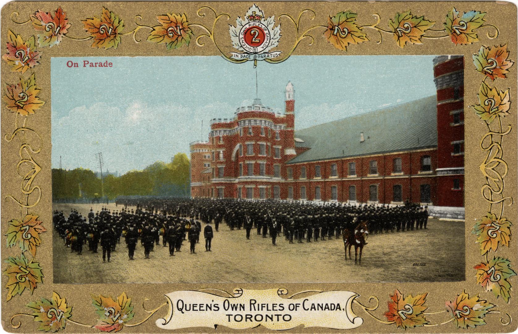
M 165 211 L 177 216 L 199 218 L 214 222 L 218 231 L 222 222 L 231 230 L 246 230 L 250 239 L 252 229 L 276 244 L 280 234 L 298 243 L 340 238 L 344 229 L 354 229 L 353 221 L 367 221 L 373 234 L 426 229 L 428 207 L 415 203 L 400 206 L 353 205 L 349 203 L 316 204 L 313 202 L 249 201 L 235 199 L 130 199 L 119 198 L 119 205 L 137 206 L 146 211 Z M 354 219 L 356 217 L 356 219 Z

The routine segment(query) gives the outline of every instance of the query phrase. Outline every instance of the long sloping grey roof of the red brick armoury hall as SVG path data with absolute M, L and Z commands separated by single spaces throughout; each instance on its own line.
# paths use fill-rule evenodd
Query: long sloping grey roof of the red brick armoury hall
M 360 142 L 360 133 L 365 141 Z M 310 147 L 287 163 L 437 146 L 437 96 L 295 131 L 295 147 Z

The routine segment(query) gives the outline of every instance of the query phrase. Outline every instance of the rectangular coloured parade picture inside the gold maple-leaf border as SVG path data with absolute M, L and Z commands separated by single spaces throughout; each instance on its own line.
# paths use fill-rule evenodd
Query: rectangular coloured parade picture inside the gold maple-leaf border
M 51 64 L 55 283 L 464 280 L 462 56 Z

